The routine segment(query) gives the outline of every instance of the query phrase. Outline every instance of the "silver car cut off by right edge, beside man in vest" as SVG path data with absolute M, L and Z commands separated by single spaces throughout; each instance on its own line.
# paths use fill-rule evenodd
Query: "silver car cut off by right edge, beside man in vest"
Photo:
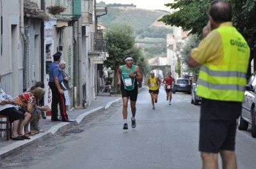
M 249 78 L 245 91 L 244 101 L 242 104 L 242 114 L 238 119 L 238 129 L 247 130 L 248 124 L 252 125 L 252 137 L 256 137 L 256 72 Z

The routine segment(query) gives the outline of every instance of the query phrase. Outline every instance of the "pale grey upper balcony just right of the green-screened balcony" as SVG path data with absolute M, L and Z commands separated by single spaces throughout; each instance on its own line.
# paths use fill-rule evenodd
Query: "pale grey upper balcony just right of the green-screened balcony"
M 93 23 L 93 1 L 82 0 L 82 24 L 86 26 Z

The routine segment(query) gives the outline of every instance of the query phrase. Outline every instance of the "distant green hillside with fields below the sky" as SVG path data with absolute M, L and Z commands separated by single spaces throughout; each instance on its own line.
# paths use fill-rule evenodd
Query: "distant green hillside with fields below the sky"
M 105 4 L 108 14 L 100 17 L 99 22 L 111 28 L 115 24 L 131 26 L 136 36 L 136 43 L 143 48 L 147 57 L 166 53 L 166 34 L 173 33 L 173 29 L 157 22 L 170 12 L 164 10 L 144 10 L 136 8 L 134 4 Z

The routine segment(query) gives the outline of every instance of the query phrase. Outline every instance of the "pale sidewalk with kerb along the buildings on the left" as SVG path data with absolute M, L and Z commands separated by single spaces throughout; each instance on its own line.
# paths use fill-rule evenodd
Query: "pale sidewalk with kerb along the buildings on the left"
M 139 88 L 139 92 L 144 87 Z M 38 133 L 35 136 L 30 136 L 30 140 L 22 140 L 22 141 L 6 141 L 6 137 L 0 137 L 0 160 L 4 159 L 15 152 L 28 147 L 29 145 L 42 142 L 48 138 L 51 138 L 58 133 L 65 131 L 72 126 L 76 126 L 83 122 L 86 117 L 90 117 L 92 114 L 97 114 L 103 110 L 111 107 L 113 103 L 118 101 L 122 101 L 121 94 L 109 96 L 108 94 L 102 94 L 97 96 L 90 106 L 84 109 L 75 108 L 71 112 L 68 112 L 68 119 L 73 122 L 51 122 L 51 116 L 47 116 L 47 119 L 40 119 L 39 126 L 44 133 Z

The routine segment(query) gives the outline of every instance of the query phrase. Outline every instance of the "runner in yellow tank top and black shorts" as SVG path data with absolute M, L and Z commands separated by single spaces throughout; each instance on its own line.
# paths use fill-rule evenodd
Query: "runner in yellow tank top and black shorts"
M 151 103 L 152 103 L 153 110 L 155 110 L 155 103 L 157 103 L 157 96 L 159 93 L 160 85 L 161 85 L 161 80 L 158 77 L 155 77 L 154 71 L 150 71 L 150 77 L 148 78 L 148 87 L 149 87 L 148 92 L 150 93 L 150 96 L 151 96 Z

